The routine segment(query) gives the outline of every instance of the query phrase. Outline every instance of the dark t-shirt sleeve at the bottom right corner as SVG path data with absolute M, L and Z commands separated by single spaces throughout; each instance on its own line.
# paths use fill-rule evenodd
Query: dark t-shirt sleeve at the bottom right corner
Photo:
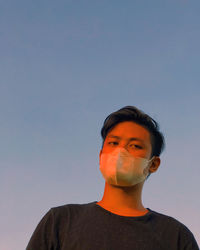
M 194 235 L 185 225 L 180 228 L 179 250 L 199 250 Z

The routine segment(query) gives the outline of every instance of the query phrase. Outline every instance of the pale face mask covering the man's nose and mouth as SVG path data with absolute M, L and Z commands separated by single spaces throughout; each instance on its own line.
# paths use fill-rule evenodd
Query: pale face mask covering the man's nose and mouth
M 134 157 L 126 149 L 116 148 L 112 153 L 101 154 L 100 171 L 109 184 L 133 186 L 146 179 L 152 159 Z

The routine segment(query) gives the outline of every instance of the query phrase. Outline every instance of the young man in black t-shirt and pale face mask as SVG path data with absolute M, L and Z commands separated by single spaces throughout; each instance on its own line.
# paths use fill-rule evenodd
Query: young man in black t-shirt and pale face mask
M 50 209 L 27 250 L 198 250 L 185 225 L 142 204 L 164 148 L 156 121 L 126 106 L 106 118 L 101 135 L 102 200 Z

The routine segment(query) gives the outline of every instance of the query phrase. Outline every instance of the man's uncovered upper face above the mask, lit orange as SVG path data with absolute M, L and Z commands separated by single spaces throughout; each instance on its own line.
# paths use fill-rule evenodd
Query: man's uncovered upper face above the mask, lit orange
M 150 159 L 152 146 L 149 131 L 132 121 L 118 123 L 106 136 L 101 153 L 111 153 L 117 147 L 125 148 L 135 157 Z

